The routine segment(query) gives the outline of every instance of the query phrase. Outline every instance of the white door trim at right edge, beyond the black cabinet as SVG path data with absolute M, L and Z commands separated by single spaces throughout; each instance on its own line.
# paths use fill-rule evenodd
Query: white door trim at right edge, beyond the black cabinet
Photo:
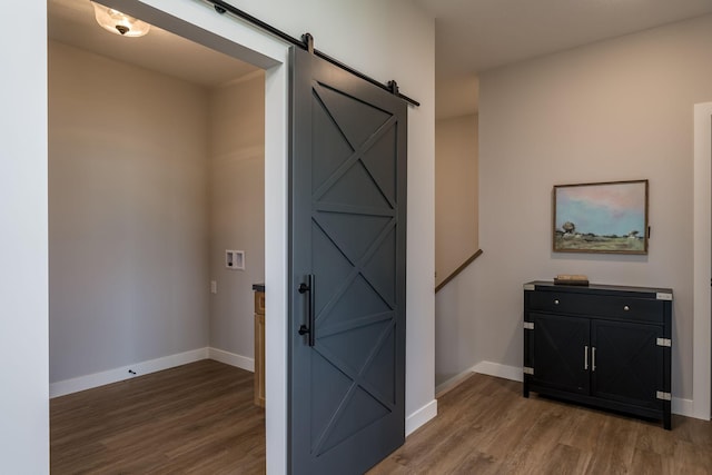
M 710 419 L 712 102 L 694 106 L 692 415 Z

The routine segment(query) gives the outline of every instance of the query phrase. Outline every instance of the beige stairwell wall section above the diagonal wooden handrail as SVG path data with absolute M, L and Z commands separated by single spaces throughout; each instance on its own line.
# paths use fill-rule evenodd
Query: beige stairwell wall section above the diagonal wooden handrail
M 477 116 L 437 120 L 435 285 L 439 285 L 476 250 Z

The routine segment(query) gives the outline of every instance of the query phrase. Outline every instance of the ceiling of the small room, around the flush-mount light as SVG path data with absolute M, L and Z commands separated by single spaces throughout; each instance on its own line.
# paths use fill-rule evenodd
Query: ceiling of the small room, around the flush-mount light
M 89 0 L 48 0 L 47 16 L 48 37 L 52 40 L 208 88 L 256 70 L 156 27 L 140 38 L 111 34 L 97 24 Z

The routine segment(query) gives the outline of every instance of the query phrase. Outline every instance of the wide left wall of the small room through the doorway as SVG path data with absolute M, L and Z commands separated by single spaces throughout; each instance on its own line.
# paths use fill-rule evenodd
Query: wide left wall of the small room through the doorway
M 49 42 L 50 382 L 208 345 L 208 96 Z

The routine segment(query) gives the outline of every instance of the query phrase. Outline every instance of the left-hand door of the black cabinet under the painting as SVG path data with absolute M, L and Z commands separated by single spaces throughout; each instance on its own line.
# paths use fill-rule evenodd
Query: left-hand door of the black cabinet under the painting
M 577 394 L 589 394 L 587 318 L 532 314 L 534 321 L 534 384 Z

